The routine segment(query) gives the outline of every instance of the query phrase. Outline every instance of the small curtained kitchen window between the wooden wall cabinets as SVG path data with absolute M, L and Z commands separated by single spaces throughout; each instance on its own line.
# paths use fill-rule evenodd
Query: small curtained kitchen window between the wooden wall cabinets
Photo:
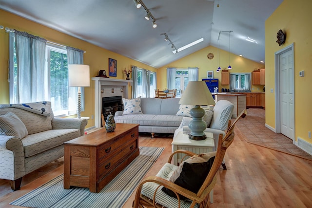
M 231 73 L 230 90 L 250 90 L 250 73 Z

